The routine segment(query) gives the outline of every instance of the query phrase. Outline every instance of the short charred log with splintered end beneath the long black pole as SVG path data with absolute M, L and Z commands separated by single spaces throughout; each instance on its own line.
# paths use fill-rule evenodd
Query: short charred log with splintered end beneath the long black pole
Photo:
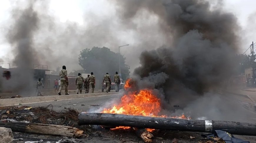
M 152 137 L 154 137 L 149 131 L 146 129 L 132 128 L 135 131 L 135 134 L 141 138 L 146 143 L 152 142 Z

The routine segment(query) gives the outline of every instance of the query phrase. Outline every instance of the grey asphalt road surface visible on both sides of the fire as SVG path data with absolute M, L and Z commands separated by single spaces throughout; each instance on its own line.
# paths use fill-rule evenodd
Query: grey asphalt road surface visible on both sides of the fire
M 76 99 L 64 99 L 64 100 L 57 100 L 57 101 L 46 101 L 46 102 L 39 102 L 39 103 L 29 103 L 29 104 L 22 104 L 22 106 L 39 107 L 39 106 L 48 106 L 49 104 L 51 104 L 52 107 L 48 107 L 48 108 L 49 109 L 53 108 L 54 111 L 63 111 L 63 110 L 66 110 L 67 108 L 71 108 L 71 109 L 77 110 L 78 112 L 99 113 L 104 108 L 109 108 L 109 107 L 112 107 L 114 104 L 119 103 L 120 98 L 122 97 L 122 93 L 123 92 L 120 92 L 120 93 L 110 92 L 110 94 L 108 93 L 108 95 L 106 93 L 105 94 L 102 93 L 99 96 L 76 98 Z M 209 108 L 212 114 L 215 114 L 215 112 L 219 112 L 217 114 L 218 117 L 223 116 L 223 118 L 217 118 L 216 116 L 210 116 L 209 114 L 207 114 L 208 116 L 211 117 L 211 119 L 209 120 L 230 120 L 230 121 L 238 121 L 238 122 L 256 123 L 256 109 L 254 106 L 255 103 L 253 103 L 249 98 L 236 95 L 236 94 L 225 94 L 220 96 L 221 97 L 216 97 L 216 98 L 221 98 L 223 100 L 223 102 L 219 103 L 220 107 L 217 108 L 216 105 L 214 104 L 215 105 L 214 107 L 207 106 L 207 108 Z M 224 102 L 224 101 L 228 101 L 228 102 Z M 225 103 L 226 105 L 222 105 Z M 205 107 L 203 105 L 200 105 L 200 106 Z M 179 108 L 176 108 L 176 109 L 179 109 Z M 189 112 L 185 114 L 187 115 L 189 114 Z M 202 113 L 202 115 L 204 114 L 205 113 Z M 242 117 L 235 118 L 239 116 L 238 114 L 240 114 Z M 194 114 L 192 113 L 192 115 L 187 115 L 187 116 L 193 117 L 193 115 Z M 194 118 L 198 118 L 197 116 L 200 116 L 200 115 L 195 115 Z M 230 118 L 228 118 L 229 116 Z

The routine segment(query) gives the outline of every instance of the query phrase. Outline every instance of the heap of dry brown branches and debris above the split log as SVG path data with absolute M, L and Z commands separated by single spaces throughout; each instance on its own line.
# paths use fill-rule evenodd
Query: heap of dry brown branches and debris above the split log
M 28 106 L 0 107 L 0 119 L 7 122 L 9 120 L 16 120 L 19 122 L 66 125 L 81 128 L 81 126 L 77 125 L 79 113 L 76 110 L 69 108 L 63 112 L 56 112 L 51 107 L 52 105 L 36 108 Z

